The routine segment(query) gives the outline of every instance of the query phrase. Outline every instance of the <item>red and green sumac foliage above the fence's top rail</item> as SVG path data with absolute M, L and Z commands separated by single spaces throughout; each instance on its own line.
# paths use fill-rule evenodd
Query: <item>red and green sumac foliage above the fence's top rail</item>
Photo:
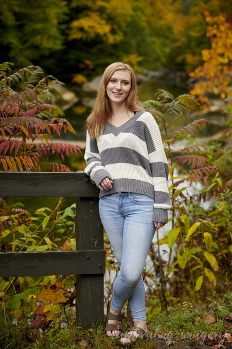
M 64 154 L 80 150 L 77 146 L 52 142 L 54 133 L 62 130 L 75 133 L 62 110 L 49 100 L 59 93 L 62 83 L 43 74 L 40 67 L 29 66 L 11 75 L 10 63 L 0 65 L 0 170 L 40 171 L 54 154 L 64 160 Z M 48 162 L 50 171 L 70 172 L 62 163 Z

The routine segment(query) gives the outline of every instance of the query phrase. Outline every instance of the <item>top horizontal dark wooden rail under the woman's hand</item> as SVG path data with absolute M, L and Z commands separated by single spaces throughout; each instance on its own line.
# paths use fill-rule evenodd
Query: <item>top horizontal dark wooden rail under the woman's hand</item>
M 92 197 L 99 189 L 84 171 L 0 172 L 0 197 Z

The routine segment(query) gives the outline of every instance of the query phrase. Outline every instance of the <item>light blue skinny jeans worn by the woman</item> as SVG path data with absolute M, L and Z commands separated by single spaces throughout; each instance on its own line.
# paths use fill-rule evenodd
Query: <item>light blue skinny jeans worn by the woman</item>
M 111 306 L 120 311 L 128 300 L 134 321 L 147 318 L 142 273 L 155 234 L 154 203 L 146 195 L 123 192 L 99 199 L 101 221 L 120 265 Z

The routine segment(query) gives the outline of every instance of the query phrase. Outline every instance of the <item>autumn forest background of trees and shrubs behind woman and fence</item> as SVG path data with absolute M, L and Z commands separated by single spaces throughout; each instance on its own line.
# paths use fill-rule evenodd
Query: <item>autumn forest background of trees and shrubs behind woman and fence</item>
M 96 95 L 83 86 L 112 62 L 129 63 L 161 131 L 173 205 L 143 274 L 150 329 L 184 311 L 186 322 L 169 329 L 180 333 L 191 318 L 200 332 L 227 329 L 230 341 L 232 1 L 0 0 L 0 23 L 0 63 L 13 63 L 0 65 L 0 170 L 82 170 Z M 183 81 L 157 92 L 173 75 Z M 72 199 L 0 198 L 1 251 L 75 249 L 74 217 Z M 104 239 L 106 304 L 118 265 Z M 1 278 L 0 346 L 62 344 L 75 292 L 73 275 Z M 210 304 L 207 321 L 196 304 Z M 75 331 L 67 343 L 82 341 Z

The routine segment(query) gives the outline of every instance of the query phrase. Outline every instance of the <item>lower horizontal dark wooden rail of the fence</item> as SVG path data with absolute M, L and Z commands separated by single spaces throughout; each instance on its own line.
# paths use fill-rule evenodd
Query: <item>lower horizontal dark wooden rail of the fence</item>
M 105 258 L 104 249 L 0 252 L 0 277 L 103 274 Z

